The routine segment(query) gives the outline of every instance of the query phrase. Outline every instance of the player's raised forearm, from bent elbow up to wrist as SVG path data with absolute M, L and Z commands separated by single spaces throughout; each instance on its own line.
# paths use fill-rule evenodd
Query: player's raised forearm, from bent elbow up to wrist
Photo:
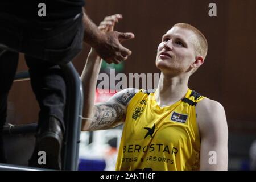
M 82 111 L 82 116 L 84 118 L 92 119 L 94 115 L 93 107 L 95 100 L 95 90 L 101 63 L 102 60 L 100 57 L 91 50 L 81 75 L 82 87 L 84 91 L 84 109 Z M 89 123 L 92 122 L 90 119 L 83 119 L 82 126 L 87 127 Z

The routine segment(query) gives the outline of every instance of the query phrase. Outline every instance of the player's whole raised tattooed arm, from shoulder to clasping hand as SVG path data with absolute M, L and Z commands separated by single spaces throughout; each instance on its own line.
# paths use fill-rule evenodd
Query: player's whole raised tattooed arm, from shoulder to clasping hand
M 122 16 L 115 14 L 106 17 L 98 27 L 101 31 L 113 31 L 115 23 Z M 119 125 L 123 122 L 128 102 L 137 90 L 124 89 L 115 94 L 106 103 L 94 105 L 95 88 L 102 60 L 92 48 L 82 71 L 81 80 L 84 90 L 84 110 L 82 112 L 82 131 L 104 130 Z

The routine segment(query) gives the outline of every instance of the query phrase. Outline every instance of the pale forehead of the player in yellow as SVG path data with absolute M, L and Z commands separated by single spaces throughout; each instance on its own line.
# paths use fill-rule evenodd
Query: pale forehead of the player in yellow
M 197 39 L 196 35 L 192 30 L 188 30 L 187 28 L 173 27 L 164 34 L 164 36 L 170 36 L 171 38 L 180 38 L 187 42 L 191 43 L 195 46 Z

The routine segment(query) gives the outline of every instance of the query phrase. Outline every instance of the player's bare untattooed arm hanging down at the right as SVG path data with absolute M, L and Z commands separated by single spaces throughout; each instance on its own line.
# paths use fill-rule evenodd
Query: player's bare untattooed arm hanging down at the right
M 196 106 L 200 131 L 200 170 L 228 169 L 228 126 L 224 107 L 205 98 Z

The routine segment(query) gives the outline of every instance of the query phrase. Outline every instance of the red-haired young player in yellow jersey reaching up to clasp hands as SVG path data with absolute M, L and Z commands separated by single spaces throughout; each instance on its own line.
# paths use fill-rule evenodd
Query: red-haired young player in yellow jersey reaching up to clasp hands
M 121 18 L 108 17 L 99 28 L 112 31 L 117 16 Z M 158 46 L 155 65 L 162 73 L 155 92 L 128 88 L 108 102 L 94 104 L 101 59 L 92 49 L 81 76 L 85 92 L 82 130 L 124 123 L 117 170 L 227 169 L 224 108 L 188 88 L 189 77 L 206 55 L 204 35 L 189 24 L 175 24 Z

